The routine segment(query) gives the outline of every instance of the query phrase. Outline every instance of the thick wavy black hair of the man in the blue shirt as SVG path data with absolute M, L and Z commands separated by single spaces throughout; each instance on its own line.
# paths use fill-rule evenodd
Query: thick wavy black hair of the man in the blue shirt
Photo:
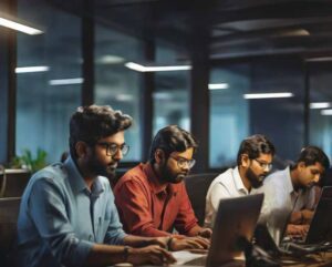
M 70 121 L 70 153 L 76 158 L 75 145 L 79 141 L 94 145 L 98 140 L 124 131 L 133 119 L 114 111 L 110 105 L 80 106 Z

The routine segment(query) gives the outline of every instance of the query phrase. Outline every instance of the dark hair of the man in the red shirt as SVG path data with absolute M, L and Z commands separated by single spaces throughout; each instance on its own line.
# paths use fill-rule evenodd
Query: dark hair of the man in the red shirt
M 149 162 L 155 163 L 156 150 L 163 150 L 167 158 L 173 152 L 185 152 L 190 147 L 194 151 L 198 147 L 194 135 L 177 125 L 168 125 L 159 130 L 154 137 L 151 146 Z

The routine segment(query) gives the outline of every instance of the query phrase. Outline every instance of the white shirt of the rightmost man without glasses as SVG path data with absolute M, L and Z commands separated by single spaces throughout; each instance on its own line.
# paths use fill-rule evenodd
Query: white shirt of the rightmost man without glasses
M 256 192 L 264 193 L 259 220 L 267 224 L 278 244 L 292 212 L 314 208 L 314 188 L 295 192 L 289 167 L 270 174 L 264 179 L 263 186 Z

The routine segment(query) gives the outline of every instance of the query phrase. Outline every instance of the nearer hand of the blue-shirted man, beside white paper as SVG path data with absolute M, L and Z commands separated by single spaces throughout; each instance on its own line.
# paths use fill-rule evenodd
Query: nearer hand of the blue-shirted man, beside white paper
M 143 248 L 129 248 L 127 261 L 133 265 L 153 264 L 160 266 L 174 264 L 176 259 L 166 249 L 154 245 Z

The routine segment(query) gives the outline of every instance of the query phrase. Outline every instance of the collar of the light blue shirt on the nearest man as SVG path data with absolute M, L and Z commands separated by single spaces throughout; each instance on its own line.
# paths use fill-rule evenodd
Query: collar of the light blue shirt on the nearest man
M 71 187 L 75 193 L 87 191 L 90 192 L 87 185 L 84 182 L 83 176 L 81 175 L 76 164 L 74 163 L 71 156 L 64 162 L 64 166 L 68 172 L 68 178 L 70 181 Z M 97 177 L 92 185 L 92 194 L 100 195 L 104 191 L 102 183 L 100 182 L 100 177 Z

